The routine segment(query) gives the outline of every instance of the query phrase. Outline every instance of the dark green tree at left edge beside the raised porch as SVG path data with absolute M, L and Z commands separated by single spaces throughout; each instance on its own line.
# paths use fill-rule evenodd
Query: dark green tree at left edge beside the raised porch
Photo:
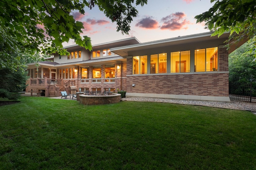
M 27 72 L 26 63 L 38 63 L 43 60 L 38 52 L 24 53 L 19 48 L 12 46 L 16 42 L 14 37 L 8 37 L 2 34 L 3 41 L 0 41 L 0 98 L 18 100 L 18 92 L 26 86 Z M 8 51 L 9 46 L 12 50 Z

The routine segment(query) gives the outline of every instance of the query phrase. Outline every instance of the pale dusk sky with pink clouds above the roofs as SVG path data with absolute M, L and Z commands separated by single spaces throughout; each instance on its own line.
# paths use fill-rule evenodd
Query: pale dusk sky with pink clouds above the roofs
M 148 4 L 136 6 L 138 15 L 130 24 L 128 35 L 116 31 L 112 23 L 97 6 L 85 8 L 85 14 L 72 12 L 74 19 L 84 24 L 82 36 L 87 35 L 92 45 L 136 37 L 141 43 L 178 36 L 208 32 L 204 23 L 196 23 L 194 17 L 208 11 L 214 4 L 210 0 L 148 0 Z M 73 41 L 64 47 L 74 45 Z

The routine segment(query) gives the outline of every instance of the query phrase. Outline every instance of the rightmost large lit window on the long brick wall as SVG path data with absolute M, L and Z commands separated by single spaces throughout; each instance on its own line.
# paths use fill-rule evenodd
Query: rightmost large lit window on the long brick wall
M 195 72 L 218 70 L 218 47 L 195 50 Z

